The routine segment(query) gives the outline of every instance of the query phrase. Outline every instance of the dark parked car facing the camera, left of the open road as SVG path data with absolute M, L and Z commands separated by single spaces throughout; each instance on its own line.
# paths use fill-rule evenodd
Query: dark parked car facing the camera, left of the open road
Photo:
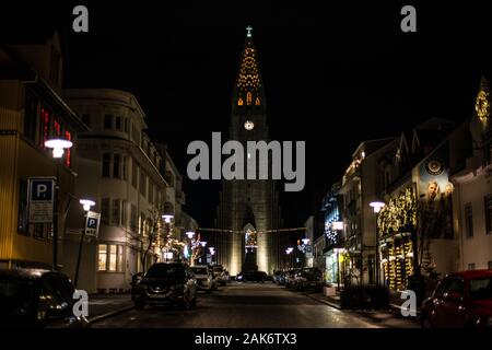
M 156 262 L 134 285 L 132 300 L 137 310 L 149 305 L 178 304 L 196 306 L 197 281 L 184 262 Z

